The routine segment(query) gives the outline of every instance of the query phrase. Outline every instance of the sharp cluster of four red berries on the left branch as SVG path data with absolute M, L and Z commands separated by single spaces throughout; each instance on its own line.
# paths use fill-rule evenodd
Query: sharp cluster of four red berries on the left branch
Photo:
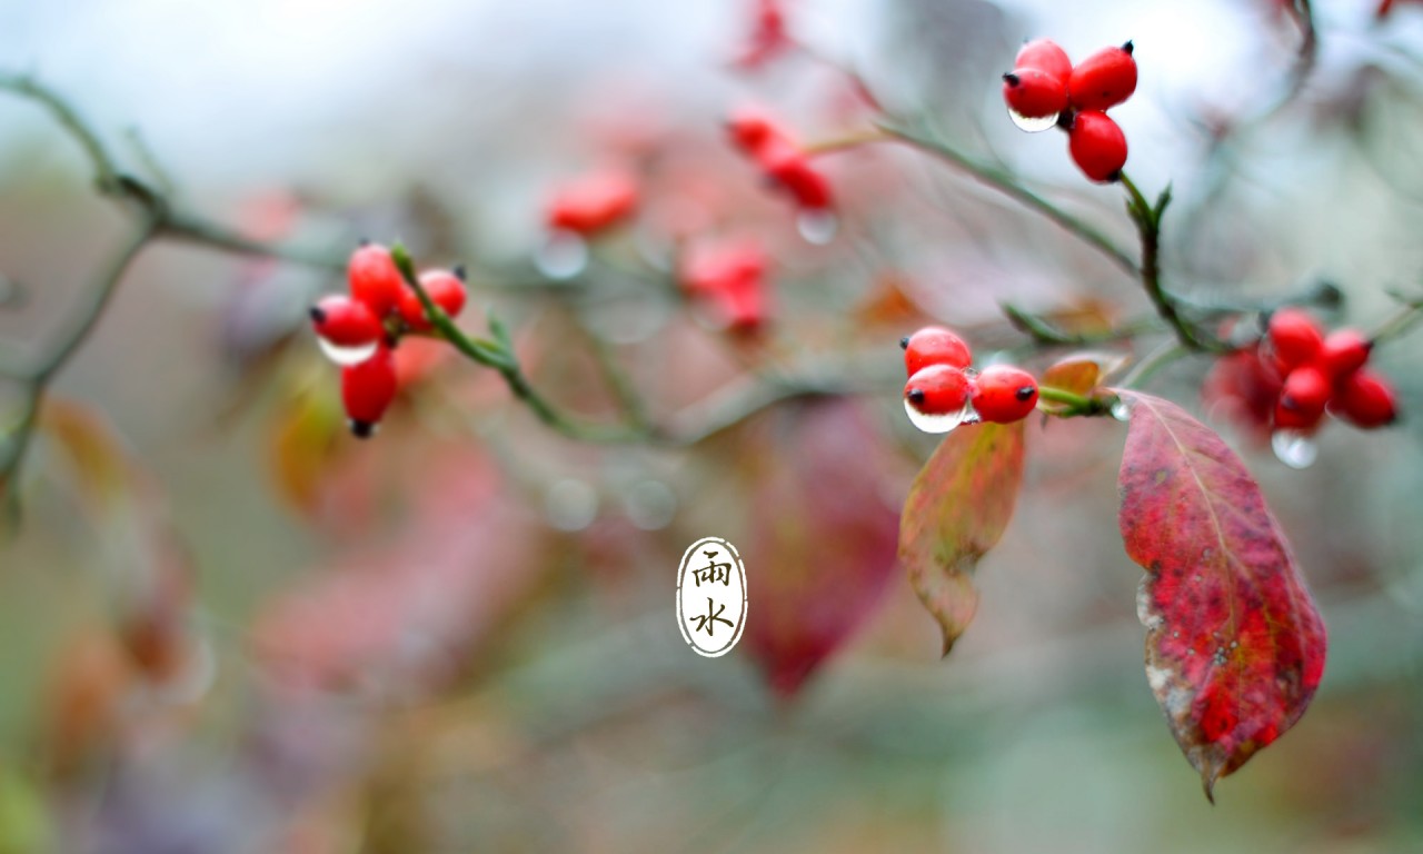
M 332 295 L 312 306 L 312 326 L 342 362 L 342 403 L 351 433 L 376 431 L 396 399 L 394 349 L 401 336 L 428 333 L 430 317 L 416 289 L 396 266 L 390 249 L 363 243 L 346 266 L 350 295 Z M 430 302 L 454 317 L 464 309 L 464 270 L 425 270 L 420 285 Z

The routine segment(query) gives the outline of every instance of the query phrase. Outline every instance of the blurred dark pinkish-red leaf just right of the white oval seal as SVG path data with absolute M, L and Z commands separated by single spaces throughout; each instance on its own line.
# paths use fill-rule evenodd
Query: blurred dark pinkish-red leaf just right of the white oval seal
M 795 693 L 859 628 L 894 576 L 895 512 L 879 438 L 845 400 L 785 407 L 753 487 L 746 643 L 771 687 Z

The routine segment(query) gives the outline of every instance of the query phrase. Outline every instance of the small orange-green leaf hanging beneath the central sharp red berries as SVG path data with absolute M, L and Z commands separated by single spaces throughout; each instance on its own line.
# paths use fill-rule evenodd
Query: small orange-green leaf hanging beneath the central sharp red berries
M 899 561 L 943 631 L 943 655 L 973 621 L 973 568 L 1013 518 L 1023 483 L 1023 421 L 951 433 L 914 478 L 899 518 Z

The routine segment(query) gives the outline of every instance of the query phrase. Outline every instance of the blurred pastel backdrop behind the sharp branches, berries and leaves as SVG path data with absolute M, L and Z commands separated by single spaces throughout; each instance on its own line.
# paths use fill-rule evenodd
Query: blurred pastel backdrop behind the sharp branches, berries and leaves
M 1302 471 L 1210 421 L 1259 478 L 1329 628 L 1308 715 L 1211 807 L 1141 669 L 1110 420 L 1029 426 L 1027 481 L 939 660 L 895 565 L 935 437 L 898 339 L 928 322 L 1033 370 L 998 309 L 1076 329 L 1150 313 L 1073 235 L 902 145 L 815 158 L 834 236 L 724 138 L 757 104 L 805 144 L 885 112 L 1015 172 L 1123 246 L 1117 186 L 1019 132 L 1023 38 L 1136 43 L 1113 115 L 1168 182 L 1170 283 L 1202 303 L 1332 282 L 1370 329 L 1423 289 L 1423 6 L 1274 0 L 0 0 L 0 67 L 60 93 L 174 205 L 340 259 L 464 262 L 532 381 L 407 342 L 373 441 L 347 433 L 305 310 L 339 272 L 155 241 L 58 374 L 0 545 L 0 851 L 1423 850 L 1420 336 L 1375 354 L 1405 420 L 1340 424 Z M 869 95 L 867 97 L 867 93 Z M 0 342 L 43 353 L 132 218 L 74 138 L 0 93 Z M 608 164 L 630 222 L 571 278 L 552 192 Z M 800 223 L 804 226 L 804 223 Z M 811 229 L 814 231 L 814 229 Z M 679 290 L 683 251 L 757 241 L 751 332 Z M 546 262 L 546 258 L 545 258 Z M 1147 334 L 1106 346 L 1140 356 Z M 1151 384 L 1201 417 L 1208 360 Z M 635 391 L 628 391 L 630 387 Z M 0 386 L 11 428 L 23 389 Z M 692 541 L 737 544 L 750 622 L 676 626 Z

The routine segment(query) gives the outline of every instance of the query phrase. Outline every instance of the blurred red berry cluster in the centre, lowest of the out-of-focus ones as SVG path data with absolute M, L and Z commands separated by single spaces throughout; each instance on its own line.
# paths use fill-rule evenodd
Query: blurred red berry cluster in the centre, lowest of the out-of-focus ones
M 712 303 L 727 332 L 754 333 L 768 313 L 766 266 L 766 251 L 751 238 L 697 242 L 682 253 L 677 280 Z

